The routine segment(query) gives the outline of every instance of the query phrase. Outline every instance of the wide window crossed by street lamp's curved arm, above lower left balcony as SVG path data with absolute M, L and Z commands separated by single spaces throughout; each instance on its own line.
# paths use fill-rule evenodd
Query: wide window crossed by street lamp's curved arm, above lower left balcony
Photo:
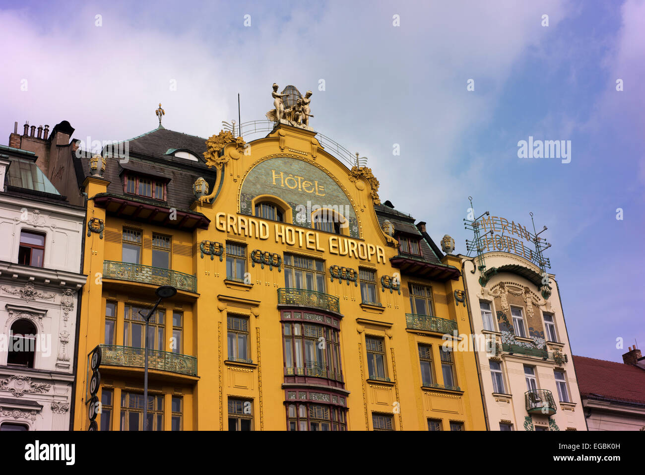
M 146 320 L 139 314 L 139 310 L 147 315 L 148 308 L 125 305 L 123 312 L 123 345 L 126 347 L 144 348 L 144 331 Z M 148 324 L 148 349 L 166 350 L 166 310 L 157 308 L 155 314 L 150 318 Z

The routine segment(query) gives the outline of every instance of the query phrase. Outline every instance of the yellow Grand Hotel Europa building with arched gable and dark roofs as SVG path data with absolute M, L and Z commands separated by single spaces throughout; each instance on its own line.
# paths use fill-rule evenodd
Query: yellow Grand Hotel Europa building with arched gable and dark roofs
M 177 294 L 148 333 L 150 430 L 486 430 L 456 345 L 461 261 L 320 138 L 286 119 L 249 143 L 160 123 L 128 157 L 72 158 L 88 219 L 76 430 L 97 347 L 98 429 L 143 429 L 159 285 Z

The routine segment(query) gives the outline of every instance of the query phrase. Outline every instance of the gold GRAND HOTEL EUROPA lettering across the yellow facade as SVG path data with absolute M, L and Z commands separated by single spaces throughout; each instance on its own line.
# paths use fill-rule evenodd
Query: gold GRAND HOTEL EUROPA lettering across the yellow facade
M 385 250 L 381 246 L 364 243 L 357 239 L 343 236 L 329 236 L 320 232 L 289 226 L 280 223 L 268 225 L 264 221 L 248 216 L 236 216 L 219 212 L 215 216 L 215 228 L 236 236 L 267 240 L 271 238 L 276 243 L 299 247 L 309 250 L 328 251 L 330 254 L 350 256 L 356 259 L 377 263 L 385 263 Z M 326 246 L 326 247 L 325 247 Z

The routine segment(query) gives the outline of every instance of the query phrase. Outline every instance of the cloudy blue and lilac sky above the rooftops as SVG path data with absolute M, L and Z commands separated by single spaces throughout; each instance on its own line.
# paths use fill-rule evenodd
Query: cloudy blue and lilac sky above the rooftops
M 468 196 L 477 214 L 533 212 L 573 353 L 622 361 L 645 345 L 644 32 L 642 0 L 3 0 L 0 143 L 27 120 L 127 139 L 159 102 L 166 128 L 208 137 L 238 93 L 244 122 L 273 82 L 310 89 L 310 125 L 368 157 L 381 199 L 435 241 L 464 252 Z M 571 141 L 570 163 L 519 158 L 530 136 Z

